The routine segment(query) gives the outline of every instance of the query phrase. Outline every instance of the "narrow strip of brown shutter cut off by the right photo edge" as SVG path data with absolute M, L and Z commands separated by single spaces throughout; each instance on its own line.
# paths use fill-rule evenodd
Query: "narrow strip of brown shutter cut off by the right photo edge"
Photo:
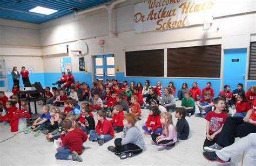
M 249 80 L 256 80 L 256 42 L 251 42 Z

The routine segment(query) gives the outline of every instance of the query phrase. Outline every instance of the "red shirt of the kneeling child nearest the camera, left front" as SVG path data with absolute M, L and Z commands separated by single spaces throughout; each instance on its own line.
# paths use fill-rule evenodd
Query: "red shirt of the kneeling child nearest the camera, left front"
M 73 129 L 66 135 L 60 135 L 63 145 L 69 146 L 71 153 L 75 150 L 78 155 L 82 154 L 82 146 L 87 138 L 87 134 L 85 134 L 85 132 L 83 132 L 80 128 Z

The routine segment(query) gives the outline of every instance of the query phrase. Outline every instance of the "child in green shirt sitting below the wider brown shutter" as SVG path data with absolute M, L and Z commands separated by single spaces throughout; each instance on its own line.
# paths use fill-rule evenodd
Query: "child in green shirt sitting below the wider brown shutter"
M 190 97 L 190 91 L 184 92 L 184 98 L 181 100 L 181 106 L 187 110 L 187 116 L 191 117 L 196 111 L 196 105 L 194 104 L 194 99 Z

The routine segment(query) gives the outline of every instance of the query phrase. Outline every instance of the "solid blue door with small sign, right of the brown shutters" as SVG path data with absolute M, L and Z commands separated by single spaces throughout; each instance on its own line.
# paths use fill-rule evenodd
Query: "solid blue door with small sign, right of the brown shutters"
M 238 83 L 245 85 L 246 56 L 246 48 L 224 50 L 223 86 L 230 85 L 233 91 Z

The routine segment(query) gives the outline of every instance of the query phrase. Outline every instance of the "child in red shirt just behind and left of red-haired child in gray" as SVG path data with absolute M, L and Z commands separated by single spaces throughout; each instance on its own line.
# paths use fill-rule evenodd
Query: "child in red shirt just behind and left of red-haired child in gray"
M 115 105 L 113 107 L 113 116 L 110 122 L 113 125 L 114 131 L 116 131 L 117 133 L 122 132 L 124 130 L 123 120 L 124 120 L 123 107 L 120 105 Z

